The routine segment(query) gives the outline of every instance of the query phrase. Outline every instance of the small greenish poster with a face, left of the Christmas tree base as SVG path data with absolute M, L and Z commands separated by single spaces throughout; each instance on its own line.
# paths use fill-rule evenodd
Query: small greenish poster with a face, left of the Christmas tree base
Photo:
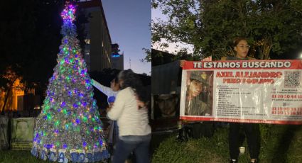
M 33 118 L 11 119 L 11 150 L 31 150 Z

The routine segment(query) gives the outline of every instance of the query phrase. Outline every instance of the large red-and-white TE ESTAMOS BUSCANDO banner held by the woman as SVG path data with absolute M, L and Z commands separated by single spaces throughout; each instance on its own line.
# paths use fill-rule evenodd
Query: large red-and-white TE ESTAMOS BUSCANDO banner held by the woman
M 301 60 L 185 62 L 180 119 L 302 124 Z

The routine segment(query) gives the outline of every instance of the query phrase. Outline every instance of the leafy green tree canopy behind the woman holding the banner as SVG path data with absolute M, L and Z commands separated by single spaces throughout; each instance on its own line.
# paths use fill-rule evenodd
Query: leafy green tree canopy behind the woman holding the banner
M 195 55 L 215 59 L 232 55 L 232 40 L 248 38 L 250 55 L 269 59 L 302 44 L 301 0 L 153 0 L 168 21 L 152 22 L 152 43 L 194 46 Z M 299 8 L 300 6 L 300 8 Z

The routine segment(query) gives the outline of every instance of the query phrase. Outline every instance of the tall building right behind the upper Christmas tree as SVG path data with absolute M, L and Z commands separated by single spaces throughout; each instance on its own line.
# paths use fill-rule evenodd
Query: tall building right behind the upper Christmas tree
M 111 68 L 112 41 L 101 0 L 79 1 L 88 23 L 85 23 L 85 48 L 83 57 L 88 72 Z

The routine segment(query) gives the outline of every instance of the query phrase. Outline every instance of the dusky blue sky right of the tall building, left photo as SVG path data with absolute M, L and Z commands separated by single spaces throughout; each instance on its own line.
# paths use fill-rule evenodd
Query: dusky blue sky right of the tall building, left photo
M 124 69 L 136 73 L 151 72 L 151 63 L 141 62 L 146 56 L 142 48 L 151 49 L 151 1 L 150 0 L 103 0 L 112 43 L 118 43 L 124 52 Z

